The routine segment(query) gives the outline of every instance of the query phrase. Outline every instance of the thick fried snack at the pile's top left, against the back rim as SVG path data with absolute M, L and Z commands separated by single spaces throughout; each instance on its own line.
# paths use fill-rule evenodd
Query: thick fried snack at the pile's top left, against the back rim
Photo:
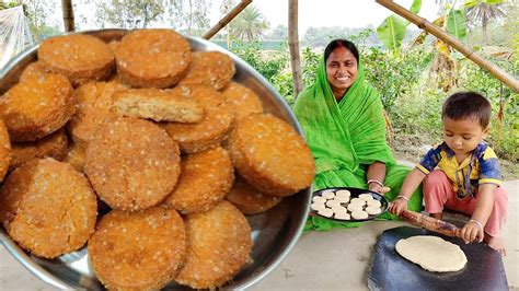
M 85 34 L 46 38 L 39 45 L 38 60 L 47 70 L 65 74 L 74 86 L 106 80 L 115 68 L 109 46 Z

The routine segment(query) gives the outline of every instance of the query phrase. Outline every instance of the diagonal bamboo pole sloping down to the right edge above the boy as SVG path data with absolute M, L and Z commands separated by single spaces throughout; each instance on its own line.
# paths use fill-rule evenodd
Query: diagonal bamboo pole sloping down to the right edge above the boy
M 468 48 L 461 42 L 459 42 L 455 37 L 450 36 L 443 30 L 439 28 L 438 26 L 431 24 L 427 20 L 412 13 L 411 11 L 406 10 L 405 8 L 399 5 L 397 3 L 393 2 L 392 0 L 376 0 L 377 3 L 385 7 L 387 9 L 393 11 L 394 13 L 401 15 L 402 18 L 413 22 L 422 30 L 432 34 L 434 36 L 440 38 L 449 46 L 453 47 L 455 50 L 463 54 L 468 59 L 474 61 L 477 66 L 488 71 L 499 81 L 505 83 L 509 86 L 512 91 L 519 92 L 519 81 L 515 79 L 511 74 L 507 73 L 506 71 L 501 70 L 499 67 L 495 66 L 494 63 L 489 62 L 485 58 L 481 57 L 477 53 L 475 53 L 472 48 Z

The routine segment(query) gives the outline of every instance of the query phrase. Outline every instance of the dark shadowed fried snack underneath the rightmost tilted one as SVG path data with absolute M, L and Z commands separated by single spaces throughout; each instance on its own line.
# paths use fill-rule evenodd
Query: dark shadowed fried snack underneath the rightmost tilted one
M 256 214 L 277 206 L 282 198 L 264 195 L 243 181 L 243 178 L 237 177 L 226 199 L 244 214 Z

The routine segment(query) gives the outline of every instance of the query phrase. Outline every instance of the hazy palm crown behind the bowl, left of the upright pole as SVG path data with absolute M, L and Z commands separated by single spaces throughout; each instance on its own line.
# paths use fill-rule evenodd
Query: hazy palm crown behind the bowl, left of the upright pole
M 231 31 L 234 36 L 250 42 L 264 36 L 264 31 L 268 30 L 268 22 L 263 13 L 254 5 L 244 9 L 231 23 Z

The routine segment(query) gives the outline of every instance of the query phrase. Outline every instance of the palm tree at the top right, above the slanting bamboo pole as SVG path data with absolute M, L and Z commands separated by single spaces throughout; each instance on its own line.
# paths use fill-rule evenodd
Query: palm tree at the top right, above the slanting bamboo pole
M 468 0 L 464 3 L 466 8 L 466 21 L 474 24 L 481 21 L 483 31 L 483 45 L 486 45 L 486 26 L 488 21 L 505 16 L 501 10 L 504 0 Z

